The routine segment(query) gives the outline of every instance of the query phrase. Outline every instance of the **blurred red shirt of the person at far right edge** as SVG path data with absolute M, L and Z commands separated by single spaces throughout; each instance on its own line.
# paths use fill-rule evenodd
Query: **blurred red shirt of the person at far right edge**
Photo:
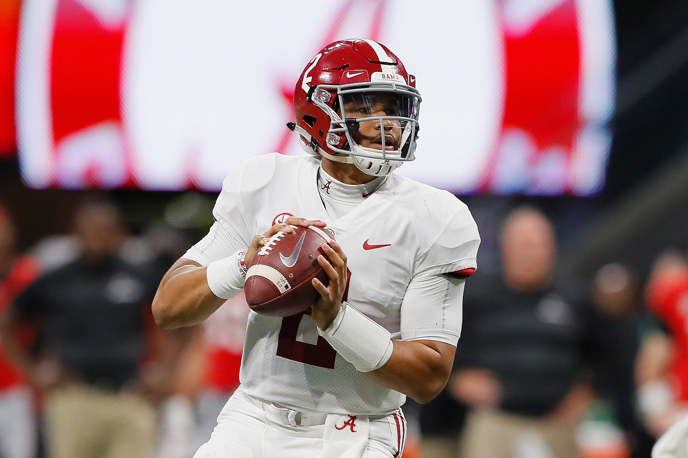
M 677 397 L 688 402 L 688 267 L 661 270 L 647 286 L 647 304 L 674 340 L 671 374 Z

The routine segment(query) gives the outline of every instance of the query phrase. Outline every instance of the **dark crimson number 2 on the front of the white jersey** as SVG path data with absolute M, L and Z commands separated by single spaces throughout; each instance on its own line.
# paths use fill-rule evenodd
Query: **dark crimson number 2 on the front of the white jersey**
M 346 289 L 344 290 L 342 301 L 346 301 L 349 297 L 349 282 L 351 281 L 351 271 L 349 268 L 347 268 L 346 274 Z M 279 336 L 277 337 L 277 356 L 303 362 L 303 364 L 334 369 L 334 360 L 336 359 L 337 352 L 327 340 L 318 336 L 318 343 L 316 345 L 297 340 L 299 325 L 301 325 L 303 315 L 310 315 L 310 310 L 282 318 L 282 327 L 279 329 Z

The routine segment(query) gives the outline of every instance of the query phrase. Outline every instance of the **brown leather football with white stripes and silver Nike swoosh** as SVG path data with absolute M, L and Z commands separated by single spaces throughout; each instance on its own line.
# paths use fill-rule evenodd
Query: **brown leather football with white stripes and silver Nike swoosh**
M 318 301 L 313 278 L 324 285 L 329 278 L 318 256 L 332 235 L 317 226 L 292 226 L 294 232 L 277 232 L 256 252 L 246 272 L 246 302 L 259 314 L 291 316 Z

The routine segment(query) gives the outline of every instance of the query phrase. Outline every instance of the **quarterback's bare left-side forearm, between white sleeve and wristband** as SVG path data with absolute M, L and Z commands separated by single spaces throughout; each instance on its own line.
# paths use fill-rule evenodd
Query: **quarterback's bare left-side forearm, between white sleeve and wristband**
M 213 294 L 206 268 L 181 259 L 160 282 L 153 299 L 153 318 L 164 329 L 193 326 L 211 316 L 224 299 Z

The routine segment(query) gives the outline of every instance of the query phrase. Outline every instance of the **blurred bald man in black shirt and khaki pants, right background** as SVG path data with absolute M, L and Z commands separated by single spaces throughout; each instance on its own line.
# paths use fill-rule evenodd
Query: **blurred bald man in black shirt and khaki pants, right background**
M 574 458 L 591 397 L 583 378 L 593 351 L 592 307 L 557 287 L 552 223 L 539 210 L 510 212 L 501 276 L 471 276 L 449 393 L 470 407 L 463 458 Z

